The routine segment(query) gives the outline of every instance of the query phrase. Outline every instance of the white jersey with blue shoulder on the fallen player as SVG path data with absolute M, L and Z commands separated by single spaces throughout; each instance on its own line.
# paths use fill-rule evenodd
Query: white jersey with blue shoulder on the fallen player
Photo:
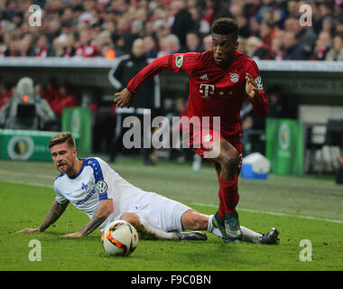
M 123 212 L 130 210 L 132 203 L 147 203 L 154 195 L 125 181 L 98 157 L 83 159 L 79 173 L 71 178 L 65 173 L 60 173 L 53 188 L 58 202 L 70 200 L 90 219 L 96 214 L 100 200 L 112 199 L 114 211 L 100 225 L 100 230 L 105 228 L 110 221 L 119 218 Z

